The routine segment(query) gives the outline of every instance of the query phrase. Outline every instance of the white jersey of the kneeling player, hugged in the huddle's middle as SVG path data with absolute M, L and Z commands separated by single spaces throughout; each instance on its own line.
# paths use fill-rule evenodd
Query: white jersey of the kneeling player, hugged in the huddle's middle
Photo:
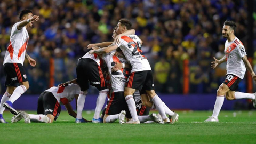
M 103 54 L 102 59 L 105 60 L 107 64 L 113 91 L 123 92 L 126 80 L 130 74 L 130 69 L 122 68 L 116 72 L 112 72 L 111 68 L 115 66 L 115 63 L 128 63 L 128 61 L 110 54 Z

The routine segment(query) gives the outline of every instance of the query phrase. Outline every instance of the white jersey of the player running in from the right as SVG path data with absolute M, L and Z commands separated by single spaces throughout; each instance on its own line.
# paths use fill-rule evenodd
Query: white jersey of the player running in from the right
M 243 79 L 246 71 L 242 60 L 246 55 L 243 43 L 237 37 L 231 42 L 227 40 L 224 52 L 227 60 L 227 74 L 233 74 Z

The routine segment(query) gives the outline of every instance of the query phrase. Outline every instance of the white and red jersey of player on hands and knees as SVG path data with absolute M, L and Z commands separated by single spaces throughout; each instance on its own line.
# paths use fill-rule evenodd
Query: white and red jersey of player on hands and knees
M 68 86 L 53 86 L 45 92 L 51 92 L 60 105 L 66 105 L 71 102 L 76 94 L 80 94 L 80 87 L 77 84 L 68 84 Z

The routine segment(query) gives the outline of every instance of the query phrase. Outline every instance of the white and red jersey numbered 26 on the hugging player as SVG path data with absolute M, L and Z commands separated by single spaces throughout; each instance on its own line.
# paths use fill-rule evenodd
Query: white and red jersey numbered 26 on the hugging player
M 147 58 L 142 55 L 141 40 L 137 35 L 122 36 L 118 47 L 131 63 L 131 72 L 151 70 Z

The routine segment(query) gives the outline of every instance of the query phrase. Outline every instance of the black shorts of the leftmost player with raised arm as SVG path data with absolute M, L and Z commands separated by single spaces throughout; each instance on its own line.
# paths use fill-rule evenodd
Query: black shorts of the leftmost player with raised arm
M 19 83 L 27 82 L 27 75 L 25 69 L 20 63 L 5 63 L 5 86 L 17 87 Z

